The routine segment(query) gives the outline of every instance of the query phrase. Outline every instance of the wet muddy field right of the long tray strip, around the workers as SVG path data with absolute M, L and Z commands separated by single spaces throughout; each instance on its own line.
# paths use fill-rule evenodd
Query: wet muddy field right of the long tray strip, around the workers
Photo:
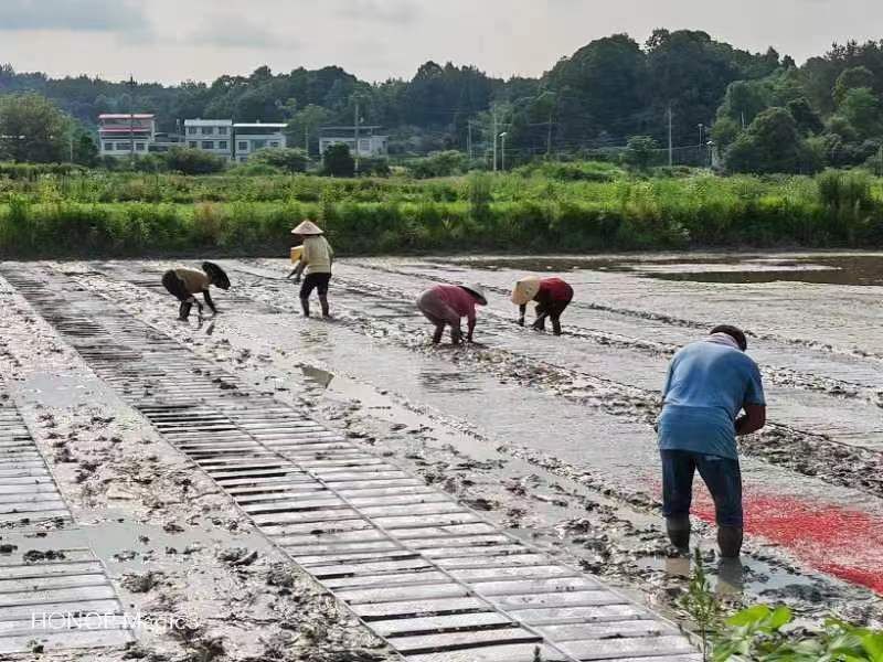
M 650 266 L 732 267 L 724 264 L 730 258 L 714 259 L 671 256 Z M 827 269 L 821 260 L 807 256 L 795 271 Z M 769 268 L 763 256 L 741 260 L 737 269 L 745 264 Z M 744 584 L 737 592 L 748 600 L 791 599 L 809 613 L 825 601 L 848 612 L 876 605 L 852 586 L 883 591 L 881 492 L 849 470 L 855 458 L 863 468 L 879 462 L 883 441 L 876 355 L 883 356 L 883 343 L 870 333 L 879 321 L 874 285 L 666 280 L 649 277 L 652 269 L 625 268 L 621 258 L 344 260 L 332 290 L 337 319 L 329 323 L 297 314 L 296 289 L 280 277 L 288 271 L 284 260 L 231 260 L 234 289 L 216 297 L 223 313 L 200 328 L 173 322 L 174 302 L 156 287 L 167 266 L 64 269 L 255 385 L 320 410 L 330 425 L 392 453 L 501 525 L 563 545 L 591 572 L 655 596 L 683 586 L 677 579 L 683 568 L 666 559 L 656 505 L 651 419 L 664 366 L 711 323 L 743 323 L 754 333 L 752 353 L 767 380 L 778 436 L 758 442 L 775 453 L 762 448 L 744 460 L 747 569 L 738 580 L 721 570 L 722 590 Z M 576 288 L 565 337 L 513 324 L 508 290 L 528 266 L 565 273 Z M 483 346 L 428 346 L 428 325 L 413 301 L 436 280 L 489 288 L 477 330 Z M 318 391 L 305 393 L 305 377 Z M 842 458 L 826 455 L 840 448 Z M 696 512 L 713 520 L 701 491 Z M 698 533 L 711 551 L 713 527 L 699 523 Z

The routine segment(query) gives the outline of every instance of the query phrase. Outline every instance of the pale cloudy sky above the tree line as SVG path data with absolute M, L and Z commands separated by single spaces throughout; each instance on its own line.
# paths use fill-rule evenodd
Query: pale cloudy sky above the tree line
M 0 0 L 0 63 L 52 76 L 212 81 L 337 64 L 366 81 L 427 60 L 538 76 L 594 39 L 704 30 L 798 62 L 883 39 L 880 0 Z

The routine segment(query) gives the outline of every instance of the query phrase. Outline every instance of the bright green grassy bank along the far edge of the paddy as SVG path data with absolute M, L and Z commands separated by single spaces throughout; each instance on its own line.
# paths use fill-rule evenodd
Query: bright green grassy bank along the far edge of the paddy
M 575 181 L 43 175 L 0 180 L 0 257 L 284 254 L 305 216 L 343 254 L 879 247 L 883 183 L 615 170 Z

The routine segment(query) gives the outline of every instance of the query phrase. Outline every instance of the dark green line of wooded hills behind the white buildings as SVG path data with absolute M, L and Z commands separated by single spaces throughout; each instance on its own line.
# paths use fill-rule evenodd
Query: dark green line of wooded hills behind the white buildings
M 195 117 L 285 121 L 289 143 L 316 154 L 318 127 L 351 125 L 358 108 L 360 120 L 385 127 L 398 156 L 458 150 L 482 159 L 506 132 L 514 164 L 543 154 L 603 153 L 629 140 L 636 150 L 662 148 L 670 130 L 673 145 L 694 145 L 698 153 L 713 140 L 734 171 L 812 172 L 880 158 L 883 40 L 833 45 L 798 66 L 772 47 L 751 53 L 701 31 L 656 30 L 645 43 L 614 34 L 540 77 L 506 81 L 435 62 L 409 81 L 368 83 L 338 66 L 288 73 L 264 66 L 248 76 L 173 86 L 50 78 L 0 66 L 0 95 L 25 93 L 51 99 L 72 118 L 52 128 L 67 137 L 63 145 L 28 154 L 45 161 L 68 160 L 72 152 L 74 160 L 86 158 L 97 116 L 130 109 L 155 113 L 169 132 Z M 24 110 L 11 106 L 22 104 L 0 103 L 0 157 L 20 160 L 23 146 L 15 142 L 23 134 L 15 122 Z

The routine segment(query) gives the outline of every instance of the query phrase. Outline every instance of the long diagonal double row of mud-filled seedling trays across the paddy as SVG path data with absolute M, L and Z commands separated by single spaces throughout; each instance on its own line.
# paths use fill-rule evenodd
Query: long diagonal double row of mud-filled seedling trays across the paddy
M 480 649 L 509 660 L 576 660 L 594 649 L 596 659 L 624 650 L 701 659 L 670 623 L 383 458 L 251 393 L 106 299 L 64 277 L 4 274 L 124 399 L 406 658 Z M 530 563 L 517 563 L 523 557 Z M 615 644 L 593 629 L 603 612 Z M 440 631 L 424 633 L 427 619 L 461 613 L 470 615 L 467 623 L 490 619 L 498 628 L 449 630 L 439 621 L 432 629 Z M 635 629 L 636 620 L 655 624 Z M 554 626 L 565 622 L 582 629 L 560 642 Z

